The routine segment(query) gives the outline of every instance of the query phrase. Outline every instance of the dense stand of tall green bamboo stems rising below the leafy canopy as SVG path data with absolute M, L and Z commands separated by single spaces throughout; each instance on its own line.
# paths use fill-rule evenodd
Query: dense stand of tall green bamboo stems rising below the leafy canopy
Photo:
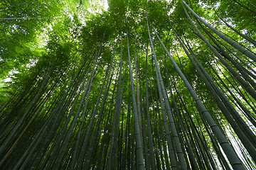
M 191 22 L 191 29 L 216 57 L 213 60 L 215 63 L 210 62 L 201 47 L 210 72 L 196 57 L 186 35 L 178 35 L 169 19 L 171 30 L 220 113 L 235 132 L 232 141 L 228 137 L 232 132 L 223 129 L 224 125 L 221 125 L 217 114 L 206 101 L 199 98 L 201 94 L 193 88 L 182 64 L 176 64 L 174 55 L 170 54 L 145 13 L 149 36 L 148 45 L 144 49 L 145 72 L 140 69 L 142 63 L 136 45 L 134 56 L 130 55 L 129 32 L 127 29 L 124 32 L 121 24 L 119 40 L 104 69 L 101 68 L 100 55 L 105 35 L 102 35 L 101 42 L 87 50 L 80 68 L 70 74 L 68 79 L 65 78 L 65 84 L 60 84 L 60 80 L 65 77 L 65 69 L 58 77 L 52 76 L 56 64 L 53 60 L 41 80 L 32 77 L 33 81 L 26 85 L 23 93 L 11 98 L 1 108 L 0 168 L 256 167 L 256 55 L 210 26 L 185 1 L 181 1 Z M 192 20 L 187 10 L 196 19 Z M 235 30 L 223 18 L 220 20 L 256 46 L 255 40 Z M 198 23 L 204 33 L 194 22 Z M 164 49 L 164 60 L 159 60 L 156 55 L 156 45 L 151 37 L 153 33 L 154 41 Z M 230 46 L 221 42 L 213 33 Z M 123 35 L 126 35 L 126 45 L 123 45 Z M 127 47 L 127 51 L 124 52 L 123 46 Z M 116 55 L 117 47 L 120 55 Z M 169 57 L 169 61 L 166 57 Z M 180 80 L 169 73 L 167 62 L 170 61 L 189 91 L 190 96 L 186 94 L 187 98 L 180 93 L 183 90 L 178 86 L 177 81 Z M 225 79 L 228 83 L 223 79 L 227 74 L 223 73 L 223 77 L 219 75 L 224 71 L 231 77 Z M 94 83 L 99 82 L 97 79 L 102 79 L 100 84 Z M 230 90 L 228 84 L 235 91 Z M 198 116 L 195 118 L 193 114 Z

